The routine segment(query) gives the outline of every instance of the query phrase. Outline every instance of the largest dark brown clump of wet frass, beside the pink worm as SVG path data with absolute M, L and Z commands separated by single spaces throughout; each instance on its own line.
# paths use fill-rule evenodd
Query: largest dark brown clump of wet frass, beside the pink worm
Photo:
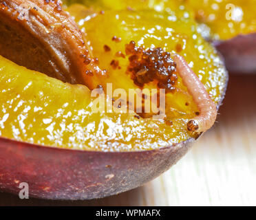
M 164 52 L 161 47 L 145 50 L 136 47 L 134 41 L 125 46 L 125 52 L 129 56 L 127 72 L 136 85 L 143 87 L 156 80 L 160 89 L 166 89 L 167 93 L 175 91 L 176 63 L 169 52 Z

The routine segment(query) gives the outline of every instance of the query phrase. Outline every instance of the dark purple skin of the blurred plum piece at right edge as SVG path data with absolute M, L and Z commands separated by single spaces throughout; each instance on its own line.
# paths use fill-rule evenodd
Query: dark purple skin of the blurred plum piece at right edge
M 240 34 L 227 41 L 215 41 L 213 45 L 224 57 L 228 72 L 256 74 L 256 33 Z

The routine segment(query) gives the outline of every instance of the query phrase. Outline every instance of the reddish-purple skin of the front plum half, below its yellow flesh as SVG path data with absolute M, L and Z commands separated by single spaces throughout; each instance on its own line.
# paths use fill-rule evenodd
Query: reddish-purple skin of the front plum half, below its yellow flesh
M 97 152 L 36 146 L 0 138 L 0 190 L 30 197 L 96 199 L 147 183 L 168 170 L 193 140 L 153 151 Z

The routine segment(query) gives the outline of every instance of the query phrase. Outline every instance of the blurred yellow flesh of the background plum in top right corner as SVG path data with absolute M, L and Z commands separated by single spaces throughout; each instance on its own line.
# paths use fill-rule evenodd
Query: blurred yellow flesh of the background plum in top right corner
M 211 28 L 214 39 L 256 32 L 255 0 L 186 1 L 195 19 Z M 186 4 L 185 4 L 186 5 Z

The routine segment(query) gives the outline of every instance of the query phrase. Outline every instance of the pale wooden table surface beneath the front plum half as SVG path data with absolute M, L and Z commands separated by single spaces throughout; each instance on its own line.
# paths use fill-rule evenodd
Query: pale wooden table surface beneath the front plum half
M 4 205 L 256 206 L 256 75 L 231 76 L 214 128 L 145 186 L 92 201 L 21 200 L 0 193 Z

